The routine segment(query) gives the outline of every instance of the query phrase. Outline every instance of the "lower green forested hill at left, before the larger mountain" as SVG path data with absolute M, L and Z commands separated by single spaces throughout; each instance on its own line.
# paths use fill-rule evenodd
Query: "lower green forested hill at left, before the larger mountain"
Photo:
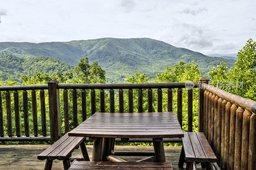
M 6 82 L 8 79 L 20 81 L 22 75 L 33 75 L 35 71 L 52 75 L 55 72 L 73 70 L 73 66 L 51 57 L 20 58 L 14 55 L 0 55 L 0 82 Z

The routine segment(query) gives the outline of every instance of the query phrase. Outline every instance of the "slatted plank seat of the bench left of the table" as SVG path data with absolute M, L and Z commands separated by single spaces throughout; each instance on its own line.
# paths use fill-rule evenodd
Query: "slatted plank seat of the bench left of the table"
M 76 147 L 83 142 L 84 137 L 69 137 L 66 133 L 63 137 L 49 146 L 44 152 L 37 156 L 39 160 L 64 160 L 71 156 Z

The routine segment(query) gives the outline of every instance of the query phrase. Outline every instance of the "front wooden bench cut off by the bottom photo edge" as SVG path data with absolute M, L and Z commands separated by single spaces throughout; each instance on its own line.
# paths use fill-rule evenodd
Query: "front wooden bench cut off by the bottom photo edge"
M 164 169 L 172 170 L 171 162 L 103 162 L 103 161 L 74 161 L 69 170 L 89 170 L 89 169 Z

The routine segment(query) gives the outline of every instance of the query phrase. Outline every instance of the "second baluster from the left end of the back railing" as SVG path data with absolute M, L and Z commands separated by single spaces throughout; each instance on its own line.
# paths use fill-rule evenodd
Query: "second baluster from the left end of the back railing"
M 11 94 L 9 91 L 5 92 L 5 100 L 6 100 L 7 134 L 9 137 L 12 137 Z

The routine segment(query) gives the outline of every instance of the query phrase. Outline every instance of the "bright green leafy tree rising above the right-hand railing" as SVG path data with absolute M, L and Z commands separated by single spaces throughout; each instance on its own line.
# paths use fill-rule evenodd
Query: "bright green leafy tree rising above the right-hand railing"
M 249 39 L 243 49 L 238 52 L 237 61 L 228 70 L 222 62 L 209 71 L 211 84 L 223 90 L 256 100 L 256 42 Z

